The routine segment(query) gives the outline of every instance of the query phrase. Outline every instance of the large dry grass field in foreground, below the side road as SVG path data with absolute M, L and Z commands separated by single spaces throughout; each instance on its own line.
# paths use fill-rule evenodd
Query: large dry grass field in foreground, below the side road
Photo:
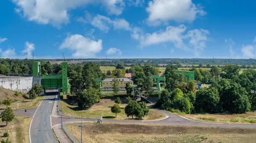
M 65 127 L 81 139 L 81 130 L 73 123 Z M 255 143 L 256 129 L 207 126 L 177 126 L 83 123 L 83 143 Z

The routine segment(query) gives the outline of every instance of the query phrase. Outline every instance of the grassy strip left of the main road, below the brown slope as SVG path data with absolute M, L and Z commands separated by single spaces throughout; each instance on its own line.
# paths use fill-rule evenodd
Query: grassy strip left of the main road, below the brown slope
M 44 99 L 44 96 L 38 96 L 37 98 L 33 99 L 33 101 L 31 101 L 31 99 L 24 99 L 22 101 L 13 102 L 12 105 L 9 107 L 17 109 L 17 103 L 19 102 L 18 110 L 31 109 L 31 108 L 38 107 L 43 99 Z M 6 109 L 6 106 L 3 104 L 0 104 L 0 109 Z

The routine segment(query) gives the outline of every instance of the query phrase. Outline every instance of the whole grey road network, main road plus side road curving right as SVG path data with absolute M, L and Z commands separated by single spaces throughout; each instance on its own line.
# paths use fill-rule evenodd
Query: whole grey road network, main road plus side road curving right
M 52 126 L 61 123 L 61 118 L 56 114 L 56 107 L 53 106 L 55 101 L 55 95 L 58 94 L 58 90 L 51 90 L 44 100 L 41 102 L 38 108 L 28 109 L 26 112 L 27 116 L 32 117 L 30 126 L 30 139 L 31 143 L 57 143 L 53 133 Z M 52 115 L 51 114 L 52 109 Z M 256 125 L 244 125 L 244 124 L 223 124 L 223 123 L 205 123 L 192 121 L 167 111 L 156 109 L 159 112 L 169 116 L 163 120 L 158 121 L 129 121 L 129 120 L 105 120 L 103 122 L 115 122 L 115 123 L 147 123 L 147 124 L 169 124 L 169 125 L 192 125 L 192 126 L 223 126 L 223 127 L 249 127 L 256 128 Z M 25 115 L 24 110 L 14 111 L 15 114 Z M 88 122 L 95 121 L 94 119 L 75 119 L 75 118 L 63 118 L 63 122 Z

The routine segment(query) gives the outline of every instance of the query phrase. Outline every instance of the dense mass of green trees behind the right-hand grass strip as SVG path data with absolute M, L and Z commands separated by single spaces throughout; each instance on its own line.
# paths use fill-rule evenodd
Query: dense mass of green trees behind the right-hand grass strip
M 174 68 L 173 65 L 166 68 L 165 90 L 160 93 L 157 107 L 186 113 L 244 113 L 256 110 L 255 70 L 244 70 L 239 74 L 237 65 L 226 65 L 222 69 L 212 66 L 209 75 L 211 86 L 195 92 L 193 81 L 184 83 L 177 80 L 178 75 L 172 72 Z

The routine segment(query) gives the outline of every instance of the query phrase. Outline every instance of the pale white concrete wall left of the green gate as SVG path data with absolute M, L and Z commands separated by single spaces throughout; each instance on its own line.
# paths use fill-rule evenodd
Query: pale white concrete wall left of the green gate
M 22 93 L 28 93 L 34 84 L 41 85 L 41 77 L 25 77 L 25 76 L 10 76 L 0 78 L 0 87 L 7 88 Z

